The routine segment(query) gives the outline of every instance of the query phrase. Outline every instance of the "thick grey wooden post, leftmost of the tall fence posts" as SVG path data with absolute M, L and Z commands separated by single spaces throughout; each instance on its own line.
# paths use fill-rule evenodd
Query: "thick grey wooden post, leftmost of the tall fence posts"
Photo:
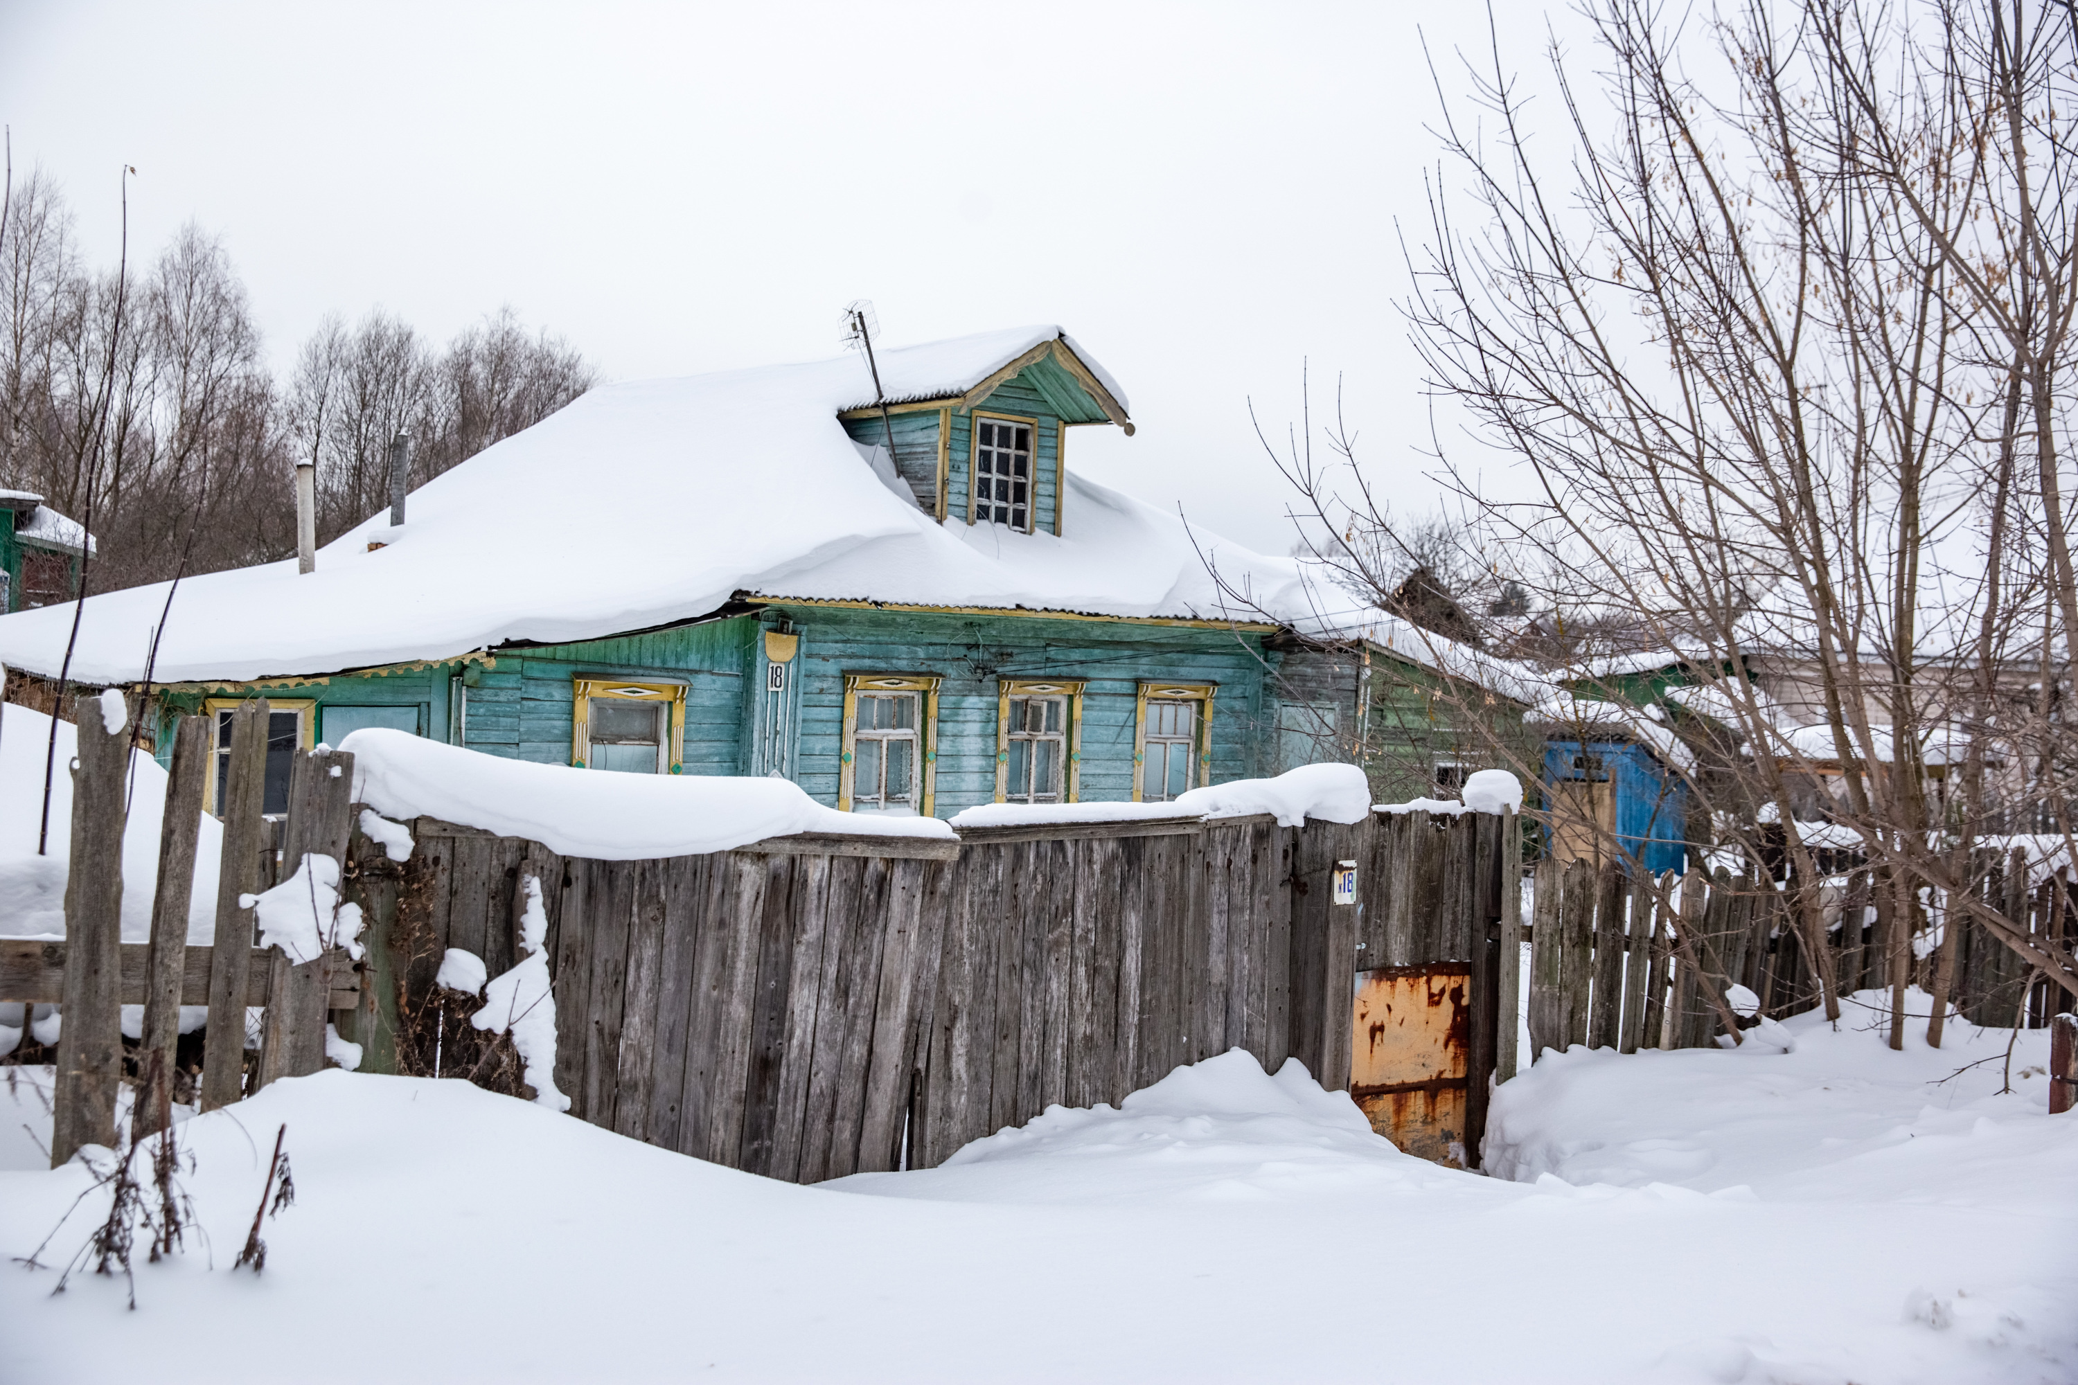
M 123 1084 L 123 770 L 127 725 L 108 729 L 100 696 L 73 704 L 73 847 L 64 876 L 64 1001 L 50 1167 L 83 1144 L 116 1142 Z M 127 718 L 125 718 L 127 723 Z

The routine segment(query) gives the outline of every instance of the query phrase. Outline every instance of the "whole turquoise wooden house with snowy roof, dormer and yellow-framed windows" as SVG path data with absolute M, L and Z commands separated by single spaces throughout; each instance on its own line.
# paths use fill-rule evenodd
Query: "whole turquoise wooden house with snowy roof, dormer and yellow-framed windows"
M 1278 733 L 1284 667 L 1305 658 L 1280 615 L 1307 610 L 1303 575 L 1068 469 L 1072 430 L 1133 432 L 1072 338 L 1020 328 L 877 368 L 877 397 L 856 355 L 594 390 L 422 486 L 407 523 L 376 515 L 318 550 L 312 573 L 189 579 L 154 673 L 160 754 L 175 716 L 229 737 L 229 712 L 264 696 L 270 810 L 297 745 L 395 727 L 941 818 L 1162 802 L 1324 758 Z M 617 496 L 634 505 L 613 515 Z M 139 685 L 133 627 L 164 598 L 91 598 L 75 681 Z M 0 658 L 56 673 L 69 610 L 0 619 Z M 212 806 L 218 789 L 212 775 Z

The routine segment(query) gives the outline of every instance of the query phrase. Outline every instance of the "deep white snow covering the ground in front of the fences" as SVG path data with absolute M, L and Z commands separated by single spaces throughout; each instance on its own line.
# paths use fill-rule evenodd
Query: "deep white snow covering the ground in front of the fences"
M 2078 1117 L 2039 1074 L 1997 1096 L 2003 1061 L 1937 1084 L 2005 1032 L 1787 1030 L 1548 1057 L 1490 1146 L 1534 1182 L 1407 1159 L 1245 1055 L 823 1188 L 328 1071 L 181 1128 L 210 1250 L 139 1265 L 137 1312 L 0 1273 L 0 1381 L 2078 1379 Z M 2016 1074 L 2043 1061 L 2022 1034 Z M 19 1256 L 87 1175 L 33 1171 L 48 1117 L 12 1103 Z M 229 1262 L 281 1123 L 297 1204 L 254 1279 Z

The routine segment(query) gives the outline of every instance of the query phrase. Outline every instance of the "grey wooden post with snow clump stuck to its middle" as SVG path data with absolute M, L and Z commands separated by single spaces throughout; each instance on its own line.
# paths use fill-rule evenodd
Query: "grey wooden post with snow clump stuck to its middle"
M 289 775 L 289 831 L 283 839 L 281 878 L 291 878 L 305 856 L 330 856 L 345 885 L 347 841 L 353 835 L 353 756 L 343 750 L 299 750 Z M 320 943 L 328 949 L 332 920 L 320 920 Z M 266 1017 L 260 1022 L 260 1078 L 254 1090 L 276 1078 L 305 1078 L 324 1059 L 326 1007 L 330 1003 L 330 957 L 293 961 L 278 947 L 268 953 Z

